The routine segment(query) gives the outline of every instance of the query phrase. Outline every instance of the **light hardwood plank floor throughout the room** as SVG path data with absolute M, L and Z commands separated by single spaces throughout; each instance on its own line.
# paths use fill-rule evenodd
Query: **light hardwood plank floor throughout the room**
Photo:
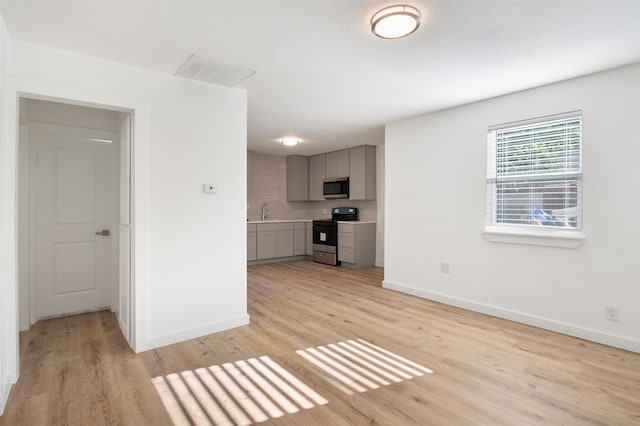
M 640 354 L 385 290 L 379 268 L 299 261 L 248 270 L 251 325 L 141 354 L 110 312 L 37 323 L 20 336 L 21 377 L 0 425 L 640 424 Z M 369 347 L 357 339 L 388 351 L 371 357 L 387 365 L 374 370 L 354 355 L 355 345 Z M 338 342 L 347 343 L 330 346 Z M 331 348 L 346 348 L 351 361 Z M 317 398 L 293 379 L 270 379 L 278 370 L 263 356 Z M 244 360 L 271 375 L 234 376 Z M 380 384 L 400 369 L 394 362 L 410 370 L 406 360 L 433 372 Z M 238 394 L 243 386 L 262 391 Z

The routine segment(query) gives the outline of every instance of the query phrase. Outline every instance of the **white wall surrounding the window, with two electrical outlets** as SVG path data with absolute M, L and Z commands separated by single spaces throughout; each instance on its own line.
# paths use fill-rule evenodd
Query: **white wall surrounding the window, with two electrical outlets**
M 640 351 L 639 87 L 634 65 L 389 124 L 385 287 Z M 487 241 L 487 127 L 573 110 L 585 243 Z

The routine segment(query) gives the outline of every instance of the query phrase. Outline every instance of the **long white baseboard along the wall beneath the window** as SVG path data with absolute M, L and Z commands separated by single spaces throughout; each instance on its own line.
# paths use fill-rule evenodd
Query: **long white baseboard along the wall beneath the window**
M 613 346 L 620 349 L 626 349 L 628 351 L 640 352 L 640 341 L 627 339 L 625 337 L 614 336 L 611 334 L 605 334 L 600 331 L 591 330 L 588 328 L 578 327 L 571 324 L 566 324 L 546 318 L 536 317 L 533 315 L 523 314 L 521 312 L 510 311 L 507 309 L 497 308 L 495 306 L 485 305 L 482 303 L 473 302 L 466 299 L 459 299 L 457 297 L 451 297 L 440 293 L 434 293 L 427 290 L 399 284 L 391 281 L 383 281 L 382 287 L 396 290 L 401 293 L 411 294 L 423 299 L 433 300 L 435 302 L 445 303 L 447 305 L 457 306 L 459 308 L 468 309 L 470 311 L 480 312 L 483 314 L 492 315 L 498 318 L 504 318 L 511 321 L 520 322 L 535 327 L 544 328 L 551 331 L 557 331 L 558 333 L 568 334 L 570 336 L 579 337 L 585 340 L 591 340 L 592 342 L 602 343 L 608 346 Z

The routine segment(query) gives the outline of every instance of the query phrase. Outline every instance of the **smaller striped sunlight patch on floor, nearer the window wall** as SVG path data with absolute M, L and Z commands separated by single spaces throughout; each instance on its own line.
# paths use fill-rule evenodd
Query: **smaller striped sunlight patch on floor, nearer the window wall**
M 363 339 L 301 349 L 296 353 L 326 373 L 326 379 L 348 395 L 433 373 Z

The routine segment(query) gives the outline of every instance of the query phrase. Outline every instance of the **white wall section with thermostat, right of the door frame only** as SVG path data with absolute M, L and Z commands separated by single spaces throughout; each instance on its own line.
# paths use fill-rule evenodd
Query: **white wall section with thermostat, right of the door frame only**
M 177 78 L 154 92 L 147 301 L 151 346 L 249 320 L 246 93 Z M 217 194 L 204 194 L 205 183 L 217 184 Z

